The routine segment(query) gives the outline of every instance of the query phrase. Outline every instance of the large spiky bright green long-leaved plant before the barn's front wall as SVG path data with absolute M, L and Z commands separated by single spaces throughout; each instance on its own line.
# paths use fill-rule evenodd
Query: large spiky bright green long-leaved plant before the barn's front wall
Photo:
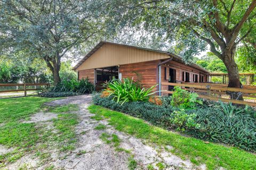
M 122 81 L 116 79 L 106 83 L 107 89 L 103 92 L 103 96 L 112 97 L 117 103 L 124 104 L 127 101 L 148 101 L 149 97 L 155 92 L 155 87 L 149 89 L 142 88 L 138 81 L 125 78 Z M 108 95 L 106 95 L 108 94 Z

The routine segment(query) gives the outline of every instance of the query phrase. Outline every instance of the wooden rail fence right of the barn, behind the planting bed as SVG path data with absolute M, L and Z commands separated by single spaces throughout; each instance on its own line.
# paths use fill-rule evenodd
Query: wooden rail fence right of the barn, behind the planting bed
M 243 88 L 229 88 L 226 84 L 169 82 L 162 82 L 161 86 L 163 95 L 173 94 L 173 91 L 170 90 L 170 87 L 180 86 L 182 89 L 187 91 L 196 92 L 200 98 L 215 101 L 221 100 L 223 102 L 231 102 L 234 104 L 256 106 L 256 87 L 245 86 Z M 228 92 L 240 92 L 240 94 L 244 97 L 244 100 L 230 99 Z

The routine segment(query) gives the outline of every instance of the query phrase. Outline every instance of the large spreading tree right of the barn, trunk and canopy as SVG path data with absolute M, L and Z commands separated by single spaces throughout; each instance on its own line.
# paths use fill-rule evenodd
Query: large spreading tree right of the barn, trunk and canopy
M 123 2 L 124 8 L 130 11 L 126 12 L 130 17 L 125 19 L 144 23 L 147 30 L 161 32 L 173 39 L 184 58 L 191 58 L 209 44 L 211 52 L 227 67 L 228 87 L 242 88 L 235 54 L 237 45 L 255 27 L 256 0 L 148 0 L 129 3 Z

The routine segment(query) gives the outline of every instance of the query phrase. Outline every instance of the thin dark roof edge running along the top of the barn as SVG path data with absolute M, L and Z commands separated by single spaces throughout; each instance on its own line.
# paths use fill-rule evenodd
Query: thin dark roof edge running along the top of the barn
M 102 45 L 104 44 L 111 44 L 111 45 L 119 45 L 119 46 L 125 46 L 125 47 L 131 47 L 131 48 L 137 48 L 137 49 L 142 49 L 142 50 L 147 50 L 147 51 L 151 51 L 151 52 L 157 52 L 157 53 L 162 53 L 162 54 L 166 54 L 166 55 L 169 55 L 169 56 L 172 56 L 175 60 L 179 61 L 179 62 L 182 62 L 184 64 L 184 62 L 182 61 L 182 58 L 179 57 L 178 55 L 175 55 L 173 53 L 170 53 L 170 52 L 166 52 L 166 51 L 163 51 L 163 50 L 155 50 L 155 49 L 150 49 L 150 48 L 143 48 L 143 47 L 137 47 L 137 46 L 130 46 L 130 45 L 124 45 L 124 44 L 117 44 L 117 43 L 110 43 L 108 41 L 100 41 L 100 43 L 98 43 L 89 53 L 87 53 L 81 61 L 79 61 L 74 67 L 72 70 L 76 70 L 80 65 L 82 65 L 84 63 L 84 61 L 87 60 L 87 58 L 89 58 L 91 55 L 93 55 L 99 48 L 102 47 Z M 199 69 L 199 70 L 202 70 L 204 72 L 207 72 L 207 73 L 210 73 L 209 71 L 203 69 L 202 67 L 196 65 L 196 64 L 189 64 L 190 66 L 192 67 L 195 67 L 196 69 Z

